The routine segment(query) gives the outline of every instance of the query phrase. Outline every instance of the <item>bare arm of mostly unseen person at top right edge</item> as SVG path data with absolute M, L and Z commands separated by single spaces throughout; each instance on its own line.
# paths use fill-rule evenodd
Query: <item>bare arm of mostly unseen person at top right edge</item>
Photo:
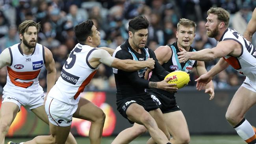
M 256 8 L 252 13 L 252 18 L 247 24 L 245 32 L 243 33 L 243 37 L 245 37 L 245 39 L 247 39 L 248 41 L 252 42 L 252 35 L 255 33 L 255 31 L 256 31 Z

